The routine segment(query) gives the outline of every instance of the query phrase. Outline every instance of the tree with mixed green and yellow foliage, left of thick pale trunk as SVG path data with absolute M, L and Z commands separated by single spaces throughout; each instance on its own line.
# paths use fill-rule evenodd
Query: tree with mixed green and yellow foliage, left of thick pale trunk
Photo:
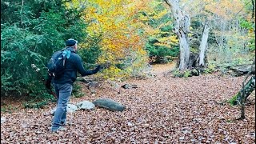
M 170 18 L 169 7 L 162 5 L 162 0 L 147 3 L 138 13 L 138 18 L 144 24 L 146 50 L 150 54 L 151 62 L 164 63 L 178 56 L 178 36 L 171 31 L 174 22 Z

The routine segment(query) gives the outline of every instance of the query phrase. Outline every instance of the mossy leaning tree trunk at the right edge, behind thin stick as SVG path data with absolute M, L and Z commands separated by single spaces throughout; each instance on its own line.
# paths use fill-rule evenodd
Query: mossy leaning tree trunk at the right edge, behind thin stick
M 250 80 L 246 82 L 246 86 L 244 87 L 244 91 L 245 91 L 244 102 L 246 102 L 246 99 L 254 90 L 255 90 L 255 76 L 251 77 Z M 241 103 L 242 93 L 243 93 L 243 88 L 238 92 L 238 94 L 235 94 L 234 97 L 230 99 L 230 104 L 237 105 L 238 103 Z

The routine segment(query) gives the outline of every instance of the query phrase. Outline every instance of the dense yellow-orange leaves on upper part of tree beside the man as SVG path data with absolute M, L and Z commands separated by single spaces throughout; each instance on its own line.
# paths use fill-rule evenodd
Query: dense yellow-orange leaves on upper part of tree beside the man
M 86 20 L 90 22 L 88 34 L 102 35 L 102 50 L 114 54 L 111 58 L 122 58 L 126 53 L 124 49 L 134 50 L 142 47 L 142 38 L 137 31 L 139 23 L 133 18 L 135 8 L 129 0 L 90 1 L 91 5 L 86 11 Z M 132 10 L 132 11 L 130 11 Z M 103 52 L 103 54 L 106 54 Z M 110 58 L 108 55 L 104 58 Z

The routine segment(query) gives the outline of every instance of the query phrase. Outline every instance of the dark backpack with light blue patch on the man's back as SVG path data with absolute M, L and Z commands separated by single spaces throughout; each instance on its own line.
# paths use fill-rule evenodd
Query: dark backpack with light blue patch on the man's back
M 55 52 L 47 63 L 48 74 L 55 79 L 61 78 L 66 69 L 66 59 L 70 58 L 70 50 Z

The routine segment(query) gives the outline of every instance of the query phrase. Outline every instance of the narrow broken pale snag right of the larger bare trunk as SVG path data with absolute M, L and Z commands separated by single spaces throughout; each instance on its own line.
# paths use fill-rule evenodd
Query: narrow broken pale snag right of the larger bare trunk
M 199 65 L 198 66 L 205 66 L 205 58 L 206 58 L 206 46 L 207 40 L 209 35 L 210 27 L 208 27 L 207 23 L 205 24 L 202 30 L 202 40 L 199 46 L 200 54 L 199 54 Z

